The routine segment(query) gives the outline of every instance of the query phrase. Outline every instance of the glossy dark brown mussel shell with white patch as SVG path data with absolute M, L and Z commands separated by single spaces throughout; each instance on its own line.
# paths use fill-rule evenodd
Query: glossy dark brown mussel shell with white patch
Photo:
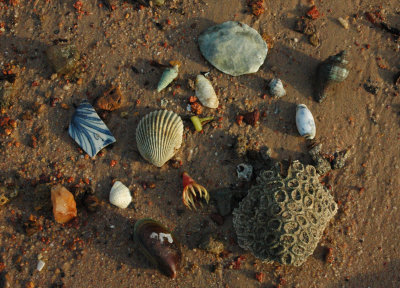
M 153 219 L 141 219 L 134 228 L 134 240 L 146 258 L 171 278 L 181 268 L 182 252 L 175 236 Z

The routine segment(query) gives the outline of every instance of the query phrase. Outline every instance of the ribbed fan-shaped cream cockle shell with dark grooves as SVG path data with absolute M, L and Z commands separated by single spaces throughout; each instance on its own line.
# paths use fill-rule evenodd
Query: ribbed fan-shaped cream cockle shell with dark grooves
M 172 111 L 153 111 L 140 120 L 136 142 L 140 155 L 151 164 L 161 167 L 181 147 L 183 122 Z

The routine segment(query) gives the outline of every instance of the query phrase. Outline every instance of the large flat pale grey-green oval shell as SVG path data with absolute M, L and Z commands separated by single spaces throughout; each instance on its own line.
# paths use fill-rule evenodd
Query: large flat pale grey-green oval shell
M 204 58 L 232 76 L 257 72 L 268 52 L 261 35 L 237 21 L 208 28 L 199 36 L 199 46 Z

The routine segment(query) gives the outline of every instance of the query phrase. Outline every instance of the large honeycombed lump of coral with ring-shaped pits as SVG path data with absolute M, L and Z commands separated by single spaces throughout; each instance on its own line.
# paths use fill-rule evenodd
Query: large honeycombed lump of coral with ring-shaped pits
M 294 161 L 283 178 L 260 173 L 233 212 L 239 245 L 266 262 L 300 266 L 316 248 L 337 204 L 314 166 Z

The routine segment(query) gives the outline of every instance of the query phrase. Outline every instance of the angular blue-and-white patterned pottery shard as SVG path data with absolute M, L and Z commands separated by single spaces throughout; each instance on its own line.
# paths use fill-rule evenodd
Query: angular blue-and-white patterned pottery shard
M 86 100 L 76 108 L 68 133 L 90 157 L 116 141 L 106 124 Z

